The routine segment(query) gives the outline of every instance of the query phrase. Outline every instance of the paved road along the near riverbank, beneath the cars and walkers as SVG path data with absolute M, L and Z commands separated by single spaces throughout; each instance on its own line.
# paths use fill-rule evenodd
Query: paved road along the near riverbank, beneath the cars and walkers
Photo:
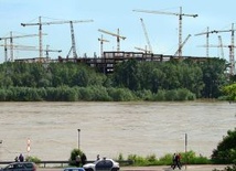
M 226 165 L 187 165 L 186 168 L 183 167 L 182 171 L 213 171 L 224 170 Z M 37 171 L 63 171 L 62 168 L 39 168 Z M 120 171 L 173 171 L 169 165 L 161 165 L 161 167 L 121 167 Z M 179 169 L 175 169 L 179 171 Z

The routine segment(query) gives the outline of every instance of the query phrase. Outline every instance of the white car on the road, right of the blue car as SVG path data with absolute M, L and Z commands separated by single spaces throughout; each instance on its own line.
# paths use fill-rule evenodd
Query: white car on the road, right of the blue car
M 118 171 L 119 163 L 114 161 L 112 159 L 100 159 L 95 161 L 94 163 L 84 164 L 83 168 L 85 171 Z

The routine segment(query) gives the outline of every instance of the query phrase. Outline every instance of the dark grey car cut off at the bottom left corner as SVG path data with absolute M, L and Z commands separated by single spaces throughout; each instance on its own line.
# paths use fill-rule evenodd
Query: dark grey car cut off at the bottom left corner
M 36 164 L 34 162 L 13 162 L 0 171 L 36 171 Z

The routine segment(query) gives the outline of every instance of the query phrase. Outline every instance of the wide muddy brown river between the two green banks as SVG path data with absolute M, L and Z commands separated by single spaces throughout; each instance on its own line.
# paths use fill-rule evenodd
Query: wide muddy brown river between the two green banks
M 210 157 L 235 124 L 236 104 L 226 101 L 0 103 L 0 160 L 67 160 L 78 146 L 88 160 L 185 148 Z

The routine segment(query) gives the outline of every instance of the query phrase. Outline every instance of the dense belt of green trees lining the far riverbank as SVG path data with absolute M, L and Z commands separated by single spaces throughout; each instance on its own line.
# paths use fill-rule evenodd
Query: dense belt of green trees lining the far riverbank
M 0 100 L 191 100 L 218 98 L 232 81 L 225 60 L 129 60 L 112 74 L 76 63 L 0 64 Z

